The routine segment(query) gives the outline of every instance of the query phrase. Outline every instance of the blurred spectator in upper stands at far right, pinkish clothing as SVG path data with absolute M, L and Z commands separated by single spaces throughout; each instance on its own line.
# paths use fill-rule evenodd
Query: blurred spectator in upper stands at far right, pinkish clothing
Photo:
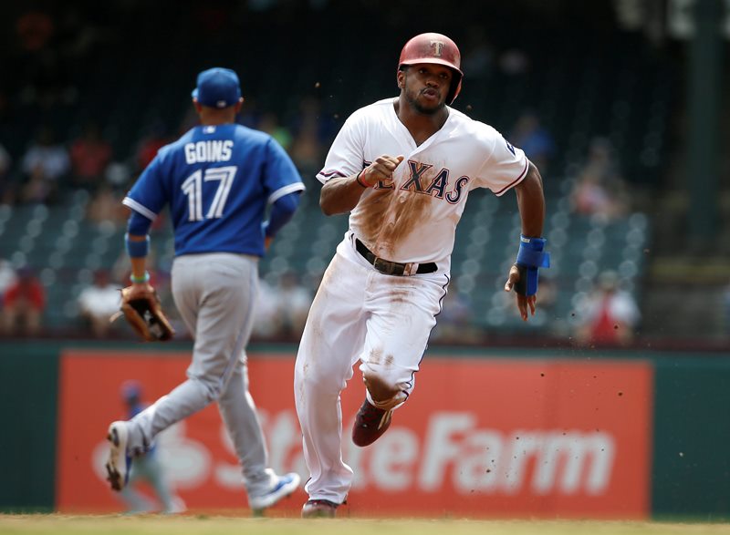
M 629 211 L 626 186 L 608 139 L 593 139 L 588 159 L 571 192 L 573 210 L 581 215 L 616 219 Z

